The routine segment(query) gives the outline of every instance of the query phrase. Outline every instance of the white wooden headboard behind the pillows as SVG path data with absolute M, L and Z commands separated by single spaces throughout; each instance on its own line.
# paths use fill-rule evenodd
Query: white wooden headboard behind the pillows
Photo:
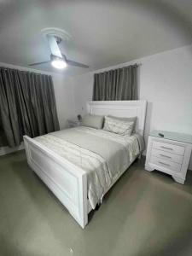
M 96 101 L 87 102 L 90 114 L 113 115 L 118 117 L 137 116 L 137 133 L 143 136 L 147 101 Z

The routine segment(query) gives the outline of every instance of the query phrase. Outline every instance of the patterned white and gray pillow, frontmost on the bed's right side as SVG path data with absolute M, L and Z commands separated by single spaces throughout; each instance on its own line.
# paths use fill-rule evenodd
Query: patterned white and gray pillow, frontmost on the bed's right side
M 105 123 L 103 130 L 118 133 L 124 136 L 131 136 L 133 131 L 134 121 L 125 121 L 113 119 L 105 116 Z

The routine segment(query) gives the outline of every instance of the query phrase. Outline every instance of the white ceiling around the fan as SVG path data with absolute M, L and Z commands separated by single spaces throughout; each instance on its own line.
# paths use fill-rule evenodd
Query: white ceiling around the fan
M 90 66 L 62 71 L 76 75 L 192 44 L 192 1 L 0 0 L 0 61 L 27 67 L 49 60 L 40 34 L 46 27 L 71 35 L 67 57 Z

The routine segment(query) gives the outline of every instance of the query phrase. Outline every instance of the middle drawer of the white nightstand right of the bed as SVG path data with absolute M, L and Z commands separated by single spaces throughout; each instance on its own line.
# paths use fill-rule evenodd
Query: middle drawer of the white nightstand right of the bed
M 183 155 L 180 154 L 172 154 L 170 152 L 152 148 L 152 155 L 158 157 L 161 160 L 170 160 L 176 162 L 177 164 L 183 163 Z

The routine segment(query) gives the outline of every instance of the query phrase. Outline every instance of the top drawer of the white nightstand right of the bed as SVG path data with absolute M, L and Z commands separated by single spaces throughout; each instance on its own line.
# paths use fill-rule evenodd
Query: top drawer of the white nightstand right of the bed
M 181 155 L 184 154 L 184 147 L 177 146 L 177 145 L 170 144 L 170 143 L 161 143 L 161 142 L 154 141 L 152 147 L 166 151 L 166 152 L 170 152 L 173 154 L 181 154 Z

